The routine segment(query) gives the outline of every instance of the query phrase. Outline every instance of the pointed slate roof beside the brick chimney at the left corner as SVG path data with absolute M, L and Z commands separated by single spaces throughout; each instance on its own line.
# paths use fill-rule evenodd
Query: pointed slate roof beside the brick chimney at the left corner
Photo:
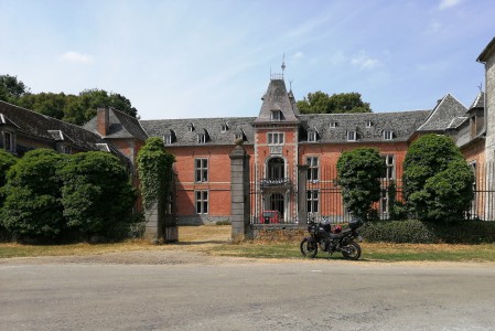
M 84 125 L 84 128 L 98 135 L 98 131 L 96 129 L 96 120 L 97 117 L 95 116 Z M 148 135 L 141 127 L 139 120 L 130 115 L 127 115 L 126 113 L 109 108 L 109 121 L 110 124 L 108 128 L 108 135 L 104 137 L 105 139 L 148 139 Z

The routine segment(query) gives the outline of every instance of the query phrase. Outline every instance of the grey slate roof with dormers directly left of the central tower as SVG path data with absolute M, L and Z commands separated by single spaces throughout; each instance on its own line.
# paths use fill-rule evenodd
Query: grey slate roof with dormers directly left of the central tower
M 245 143 L 254 143 L 252 121 L 255 117 L 227 117 L 227 118 L 190 118 L 190 119 L 161 119 L 141 120 L 141 126 L 149 137 L 163 138 L 165 135 L 174 135 L 174 146 L 196 146 L 197 135 L 207 132 L 206 145 L 234 145 L 235 135 L 244 132 Z M 194 130 L 189 127 L 193 125 Z M 227 130 L 222 127 L 227 125 Z

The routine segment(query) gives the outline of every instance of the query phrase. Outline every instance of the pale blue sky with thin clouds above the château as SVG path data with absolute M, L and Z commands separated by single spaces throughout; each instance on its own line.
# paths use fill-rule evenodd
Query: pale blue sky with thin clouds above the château
M 0 0 L 0 75 L 99 88 L 142 119 L 256 117 L 271 73 L 298 100 L 357 92 L 376 113 L 484 89 L 493 0 Z

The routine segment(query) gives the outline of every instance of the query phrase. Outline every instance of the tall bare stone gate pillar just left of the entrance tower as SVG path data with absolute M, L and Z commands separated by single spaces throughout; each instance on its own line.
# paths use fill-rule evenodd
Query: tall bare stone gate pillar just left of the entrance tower
M 249 233 L 249 156 L 237 145 L 229 157 L 232 241 L 241 242 Z

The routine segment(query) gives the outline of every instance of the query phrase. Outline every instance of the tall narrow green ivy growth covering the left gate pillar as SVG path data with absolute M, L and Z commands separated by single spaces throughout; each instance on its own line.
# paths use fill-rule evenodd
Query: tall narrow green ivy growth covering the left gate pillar
M 138 153 L 138 172 L 143 204 L 148 210 L 154 204 L 157 205 L 159 236 L 164 237 L 166 242 L 177 239 L 166 231 L 166 228 L 176 228 L 175 220 L 166 217 L 174 161 L 174 156 L 165 151 L 163 140 L 157 137 L 149 138 Z

